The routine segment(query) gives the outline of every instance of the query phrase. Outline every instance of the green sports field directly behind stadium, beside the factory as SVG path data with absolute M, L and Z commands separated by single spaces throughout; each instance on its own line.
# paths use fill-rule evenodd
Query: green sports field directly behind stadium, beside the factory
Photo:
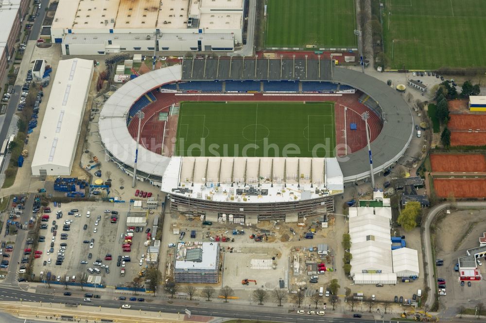
M 267 0 L 265 48 L 355 48 L 354 0 Z

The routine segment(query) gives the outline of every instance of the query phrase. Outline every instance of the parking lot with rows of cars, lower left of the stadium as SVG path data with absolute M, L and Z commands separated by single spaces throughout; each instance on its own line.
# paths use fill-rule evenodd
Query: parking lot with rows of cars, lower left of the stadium
M 65 203 L 61 205 L 61 208 L 50 205 L 51 213 L 48 222 L 41 222 L 41 224 L 47 224 L 46 229 L 40 230 L 40 236 L 45 237 L 45 242 L 39 242 L 38 251 L 42 252 L 40 258 L 35 259 L 35 267 L 33 273 L 39 275 L 40 272 L 51 272 L 52 276 L 60 276 L 60 280 L 64 281 L 66 276 L 76 277 L 76 282 L 80 282 L 83 274 L 87 275 L 101 275 L 103 277 L 102 282 L 106 286 L 123 286 L 129 283 L 133 278 L 139 274 L 140 269 L 145 264 L 140 265 L 139 260 L 141 254 L 145 252 L 145 246 L 143 242 L 146 242 L 145 229 L 143 228 L 141 233 L 134 232 L 133 244 L 131 252 L 122 252 L 121 243 L 124 240 L 124 234 L 126 233 L 126 218 L 129 211 L 128 204 L 119 203 L 89 203 L 89 202 L 73 202 Z M 105 210 L 115 210 L 119 212 L 117 214 L 117 223 L 111 223 L 111 212 L 105 213 Z M 78 211 L 73 212 L 74 215 L 68 215 L 68 212 L 72 209 Z M 56 212 L 62 211 L 63 216 L 60 219 L 56 219 Z M 90 212 L 87 217 L 87 212 Z M 76 216 L 79 214 L 79 216 Z M 98 218 L 100 221 L 96 225 Z M 66 220 L 72 221 L 69 226 L 69 231 L 63 231 L 63 225 Z M 57 225 L 57 232 L 55 237 L 51 232 L 53 229 L 53 221 Z M 153 221 L 153 220 L 152 220 Z M 151 222 L 149 223 L 151 226 Z M 95 232 L 96 231 L 96 232 Z M 61 234 L 67 234 L 66 239 L 61 240 Z M 93 243 L 91 245 L 91 241 Z M 66 249 L 61 249 L 61 244 L 66 243 Z M 51 249 L 52 245 L 52 249 Z M 51 252 L 51 250 L 53 252 Z M 62 264 L 56 265 L 56 259 L 59 255 L 64 257 Z M 111 260 L 105 260 L 105 256 L 110 254 Z M 131 261 L 125 262 L 125 275 L 121 276 L 121 266 L 117 266 L 118 256 L 130 256 Z M 94 265 L 96 260 L 101 260 L 100 265 Z M 44 261 L 46 264 L 44 265 Z M 86 262 L 86 263 L 81 263 Z M 107 270 L 102 267 L 107 266 Z M 100 273 L 89 273 L 88 268 L 98 268 Z

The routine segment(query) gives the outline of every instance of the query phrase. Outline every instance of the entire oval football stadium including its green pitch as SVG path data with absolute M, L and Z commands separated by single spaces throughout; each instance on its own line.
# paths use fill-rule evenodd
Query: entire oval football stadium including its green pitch
M 107 159 L 131 176 L 137 161 L 173 210 L 236 223 L 334 211 L 370 162 L 375 174 L 395 165 L 413 127 L 385 83 L 292 58 L 185 59 L 123 84 L 99 120 Z

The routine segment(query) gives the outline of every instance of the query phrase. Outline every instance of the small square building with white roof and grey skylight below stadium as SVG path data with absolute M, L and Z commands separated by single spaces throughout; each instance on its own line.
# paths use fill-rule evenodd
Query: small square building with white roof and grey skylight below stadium
M 179 242 L 174 264 L 176 283 L 217 283 L 218 242 Z

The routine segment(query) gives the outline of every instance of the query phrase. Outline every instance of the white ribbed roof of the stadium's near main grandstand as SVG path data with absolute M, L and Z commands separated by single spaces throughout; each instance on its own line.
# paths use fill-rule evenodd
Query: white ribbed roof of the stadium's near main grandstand
M 237 194 L 251 187 L 265 193 Z M 161 190 L 220 202 L 292 202 L 340 194 L 344 183 L 335 158 L 172 157 Z

